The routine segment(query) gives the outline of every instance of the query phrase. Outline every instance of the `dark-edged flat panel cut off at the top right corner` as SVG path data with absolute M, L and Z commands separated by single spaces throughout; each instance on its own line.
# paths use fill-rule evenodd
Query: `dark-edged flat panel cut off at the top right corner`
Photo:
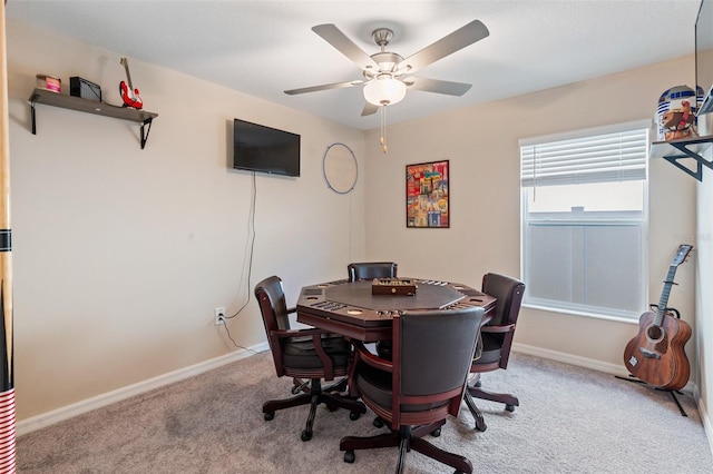
M 695 21 L 695 82 L 703 89 L 699 115 L 713 111 L 713 0 L 703 0 Z

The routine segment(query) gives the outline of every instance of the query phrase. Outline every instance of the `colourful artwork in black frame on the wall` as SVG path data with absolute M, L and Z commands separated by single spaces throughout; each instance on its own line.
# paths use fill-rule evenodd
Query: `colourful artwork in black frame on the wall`
M 450 227 L 448 160 L 406 166 L 406 226 Z

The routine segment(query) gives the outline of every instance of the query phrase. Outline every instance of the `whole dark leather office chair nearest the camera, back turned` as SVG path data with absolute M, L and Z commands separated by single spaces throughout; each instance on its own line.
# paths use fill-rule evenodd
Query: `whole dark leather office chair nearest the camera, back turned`
M 385 422 L 391 432 L 343 437 L 339 447 L 345 452 L 345 462 L 354 462 L 355 450 L 399 446 L 397 473 L 402 472 L 406 453 L 411 450 L 456 472 L 472 472 L 467 457 L 443 451 L 422 436 L 439 436 L 447 416 L 458 415 L 482 314 L 480 307 L 460 307 L 395 315 L 393 361 L 380 358 L 355 343 L 350 391 L 358 392 L 377 414 L 374 425 L 380 427 Z

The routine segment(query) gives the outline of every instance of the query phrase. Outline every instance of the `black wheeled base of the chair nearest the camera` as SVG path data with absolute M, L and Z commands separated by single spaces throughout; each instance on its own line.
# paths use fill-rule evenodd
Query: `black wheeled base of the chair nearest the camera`
M 442 419 L 424 426 L 403 426 L 399 431 L 392 429 L 391 433 L 384 433 L 375 436 L 346 436 L 339 442 L 339 448 L 345 452 L 344 462 L 353 463 L 355 460 L 354 451 L 356 450 L 399 446 L 397 474 L 403 472 L 406 453 L 411 450 L 453 467 L 457 473 L 472 473 L 472 464 L 466 456 L 443 451 L 422 438 L 422 436 L 429 433 L 433 436 L 439 436 L 440 428 L 445 424 L 446 419 Z

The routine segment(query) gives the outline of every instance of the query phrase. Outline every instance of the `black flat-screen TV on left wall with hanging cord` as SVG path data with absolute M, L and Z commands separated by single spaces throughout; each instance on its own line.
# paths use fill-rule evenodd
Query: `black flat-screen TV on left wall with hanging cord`
M 300 136 L 234 119 L 233 168 L 300 176 Z

